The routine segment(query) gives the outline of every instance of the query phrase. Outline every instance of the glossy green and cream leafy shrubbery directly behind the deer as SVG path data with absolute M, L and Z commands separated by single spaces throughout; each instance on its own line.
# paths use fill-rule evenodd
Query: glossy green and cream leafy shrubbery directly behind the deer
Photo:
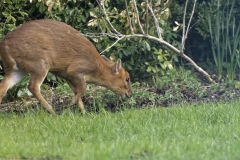
M 32 20 L 41 18 L 51 18 L 63 21 L 76 28 L 80 32 L 86 33 L 108 33 L 108 25 L 106 25 L 105 17 L 98 8 L 96 1 L 60 1 L 60 6 L 51 9 L 41 1 L 28 0 L 6 0 L 2 1 L 0 12 L 0 39 L 5 34 L 13 30 L 16 26 Z M 169 9 L 159 3 L 153 1 L 159 22 L 161 24 L 164 38 L 171 43 L 178 45 L 177 34 L 172 31 L 171 25 L 167 23 L 169 19 Z M 129 24 L 127 21 L 125 3 L 122 1 L 105 1 L 106 9 L 110 17 L 110 21 L 119 32 L 130 34 Z M 141 22 L 145 23 L 145 8 L 143 2 L 138 3 Z M 120 6 L 120 7 L 119 7 Z M 135 16 L 131 3 L 128 4 L 128 10 L 132 16 Z M 161 17 L 161 18 L 160 18 Z M 153 23 L 152 20 L 150 20 Z M 136 22 L 133 22 L 134 32 L 138 32 Z M 156 34 L 156 28 L 150 27 L 149 34 Z M 90 38 L 95 44 L 99 52 L 115 42 L 115 39 L 107 36 Z M 103 54 L 112 56 L 114 59 L 122 58 L 124 67 L 131 72 L 133 79 L 140 80 L 143 77 L 151 77 L 152 74 L 164 74 L 166 69 L 172 69 L 172 63 L 177 61 L 176 55 L 166 48 L 159 46 L 157 43 L 144 39 L 124 39 L 118 42 L 114 47 L 107 50 Z M 148 74 L 147 72 L 151 73 Z

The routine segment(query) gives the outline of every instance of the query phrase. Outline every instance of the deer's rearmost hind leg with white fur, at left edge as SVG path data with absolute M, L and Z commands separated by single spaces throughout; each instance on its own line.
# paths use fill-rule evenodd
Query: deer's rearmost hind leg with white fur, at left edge
M 7 90 L 20 82 L 25 76 L 26 73 L 21 69 L 6 73 L 4 79 L 0 82 L 0 103 Z

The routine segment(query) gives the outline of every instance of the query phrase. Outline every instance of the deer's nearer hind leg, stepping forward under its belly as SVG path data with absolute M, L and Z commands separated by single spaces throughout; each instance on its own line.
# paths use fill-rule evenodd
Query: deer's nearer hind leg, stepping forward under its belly
M 41 94 L 40 86 L 43 83 L 44 78 L 47 76 L 47 70 L 41 71 L 41 73 L 30 73 L 31 79 L 29 82 L 28 89 L 29 91 L 38 99 L 42 106 L 51 114 L 55 114 L 52 109 L 52 106 L 43 98 Z

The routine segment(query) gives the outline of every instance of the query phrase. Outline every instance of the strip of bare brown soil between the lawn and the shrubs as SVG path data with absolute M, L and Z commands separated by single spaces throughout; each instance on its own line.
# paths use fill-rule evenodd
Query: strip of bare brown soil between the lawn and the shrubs
M 154 96 L 154 100 L 148 96 L 140 97 L 134 96 L 133 98 L 136 101 L 136 104 L 131 107 L 136 108 L 143 108 L 143 107 L 152 107 L 152 106 L 159 106 L 159 107 L 169 107 L 175 104 L 199 104 L 199 103 L 218 103 L 218 102 L 229 102 L 232 100 L 240 99 L 240 89 L 222 84 L 218 85 L 217 87 L 213 86 L 201 86 L 198 88 L 202 90 L 203 95 L 196 94 L 195 91 L 184 87 L 181 89 L 180 93 L 174 93 L 174 89 L 171 88 L 167 89 L 159 89 L 154 87 L 139 87 L 138 91 L 141 90 L 143 92 L 149 93 L 156 93 Z M 172 91 L 171 97 L 166 97 L 166 91 Z M 181 98 L 174 96 L 175 94 L 180 94 Z M 116 95 L 117 96 L 117 95 Z M 165 98 L 161 98 L 165 97 Z M 73 112 L 79 112 L 77 105 L 71 105 L 71 96 L 70 95 L 55 95 L 51 93 L 51 96 L 48 96 L 47 101 L 54 107 L 54 110 L 61 114 L 62 111 L 66 108 L 70 108 Z M 84 96 L 83 102 L 87 111 L 91 112 L 92 101 L 94 100 L 93 96 Z M 106 99 L 103 97 L 100 101 L 104 101 L 104 108 L 109 111 L 116 111 L 121 108 L 122 101 L 116 102 L 112 100 Z M 28 99 L 27 101 L 16 101 L 16 102 L 5 102 L 0 104 L 0 112 L 2 113 L 9 113 L 9 112 L 16 112 L 16 113 L 25 113 L 27 110 L 36 110 L 41 109 L 39 102 L 35 98 Z M 94 111 L 98 111 L 95 109 Z

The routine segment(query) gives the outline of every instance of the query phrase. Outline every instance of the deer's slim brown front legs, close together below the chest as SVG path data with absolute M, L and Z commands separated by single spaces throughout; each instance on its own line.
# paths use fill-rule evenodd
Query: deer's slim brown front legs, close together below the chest
M 78 103 L 78 106 L 83 114 L 86 113 L 82 102 L 82 96 L 86 90 L 86 82 L 84 75 L 71 76 L 70 80 L 67 80 L 70 88 L 74 92 L 75 96 L 72 98 L 72 104 Z

